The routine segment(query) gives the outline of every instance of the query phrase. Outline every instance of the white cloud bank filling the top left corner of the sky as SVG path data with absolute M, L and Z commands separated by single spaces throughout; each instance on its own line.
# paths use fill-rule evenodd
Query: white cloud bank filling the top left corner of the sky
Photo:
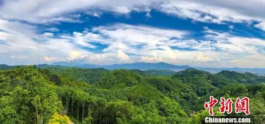
M 79 22 L 80 16 L 73 13 L 96 10 L 128 14 L 131 11 L 148 10 L 151 2 L 148 0 L 34 0 L 34 2 L 7 0 L 0 7 L 0 15 L 4 19 L 32 23 Z

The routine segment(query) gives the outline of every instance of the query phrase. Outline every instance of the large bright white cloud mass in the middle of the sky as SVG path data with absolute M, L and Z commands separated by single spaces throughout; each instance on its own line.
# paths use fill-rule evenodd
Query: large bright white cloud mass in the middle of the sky
M 95 27 L 91 31 L 86 29 L 83 32 L 74 32 L 73 35 L 62 34 L 59 36 L 61 39 L 49 39 L 49 41 L 55 43 L 55 40 L 57 42 L 70 40 L 75 44 L 90 48 L 97 48 L 90 43 L 100 43 L 107 46 L 103 49 L 107 53 L 116 53 L 117 50 L 121 50 L 124 53 L 147 56 L 150 56 L 149 51 L 161 48 L 163 50 L 160 50 L 159 54 L 175 59 L 171 48 L 166 47 L 174 45 L 168 40 L 180 39 L 187 34 L 186 31 L 117 23 Z

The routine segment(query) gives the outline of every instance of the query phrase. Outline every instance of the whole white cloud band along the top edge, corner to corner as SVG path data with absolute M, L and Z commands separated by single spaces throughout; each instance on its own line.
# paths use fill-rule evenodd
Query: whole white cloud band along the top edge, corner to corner
M 82 13 L 99 17 L 106 12 L 123 15 L 136 11 L 150 17 L 151 10 L 210 23 L 259 21 L 256 27 L 261 29 L 265 22 L 263 0 L 6 0 L 0 16 L 31 23 L 58 23 L 82 22 Z

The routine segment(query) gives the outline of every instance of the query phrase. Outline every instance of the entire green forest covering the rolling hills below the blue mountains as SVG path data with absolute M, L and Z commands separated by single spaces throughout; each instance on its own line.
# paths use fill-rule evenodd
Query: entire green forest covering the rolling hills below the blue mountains
M 261 77 L 240 75 L 196 69 L 173 73 L 64 66 L 5 68 L 0 70 L 0 122 L 200 124 L 208 116 L 203 104 L 210 95 L 233 100 L 247 96 L 251 121 L 265 122 L 265 83 Z M 225 116 L 218 107 L 214 114 Z

